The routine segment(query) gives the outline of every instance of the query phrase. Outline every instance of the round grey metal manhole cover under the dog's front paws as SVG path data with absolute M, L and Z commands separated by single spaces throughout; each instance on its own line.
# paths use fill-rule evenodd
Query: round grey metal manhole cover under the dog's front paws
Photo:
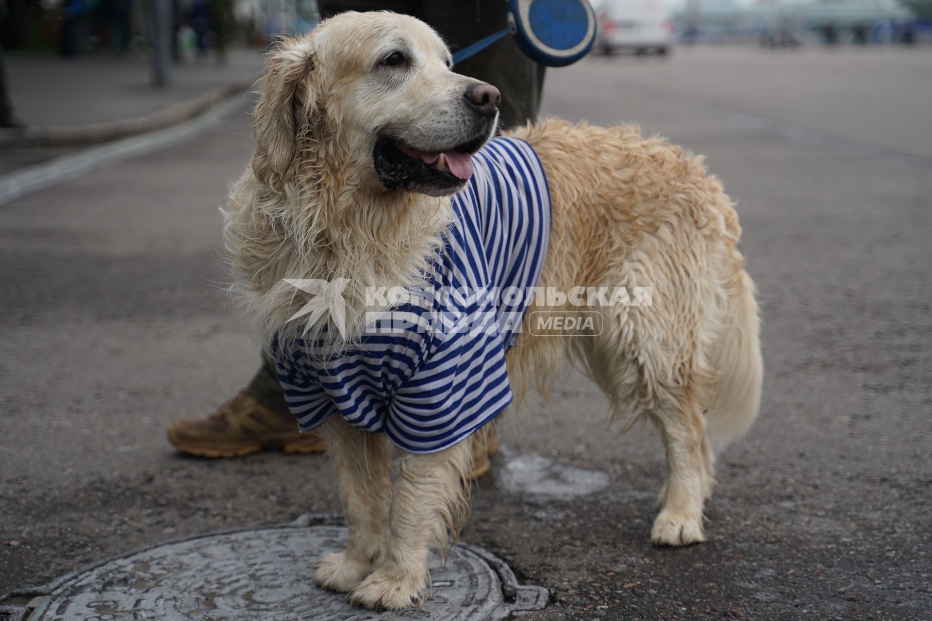
M 324 554 L 345 549 L 346 529 L 296 525 L 210 534 L 131 552 L 0 599 L 29 621 L 363 621 L 504 619 L 540 610 L 545 588 L 518 585 L 505 563 L 459 544 L 431 560 L 421 607 L 373 613 L 311 582 Z M 24 606 L 10 603 L 35 595 Z

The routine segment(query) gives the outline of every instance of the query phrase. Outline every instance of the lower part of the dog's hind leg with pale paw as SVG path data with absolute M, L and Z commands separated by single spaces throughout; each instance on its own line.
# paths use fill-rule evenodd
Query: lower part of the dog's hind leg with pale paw
M 666 484 L 651 540 L 658 546 L 705 541 L 703 501 L 711 493 L 712 464 L 706 464 L 706 422 L 694 398 L 675 399 L 652 412 L 666 447 Z

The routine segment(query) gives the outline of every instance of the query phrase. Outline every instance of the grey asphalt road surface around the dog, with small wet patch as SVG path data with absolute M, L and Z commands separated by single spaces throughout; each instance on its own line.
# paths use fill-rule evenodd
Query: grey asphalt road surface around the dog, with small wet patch
M 552 412 L 504 425 L 463 538 L 553 589 L 529 618 L 928 618 L 930 57 L 684 50 L 548 75 L 547 112 L 707 155 L 738 201 L 767 376 L 721 460 L 709 542 L 686 549 L 648 541 L 660 443 L 610 433 L 591 385 L 569 376 Z M 164 440 L 256 363 L 217 260 L 247 132 L 231 115 L 0 208 L 0 592 L 338 509 L 320 457 L 203 461 Z

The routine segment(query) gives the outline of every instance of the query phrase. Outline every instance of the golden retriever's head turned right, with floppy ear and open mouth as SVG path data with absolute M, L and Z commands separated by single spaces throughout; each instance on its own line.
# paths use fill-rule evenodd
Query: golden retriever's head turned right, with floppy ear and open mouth
M 254 110 L 256 174 L 323 169 L 378 192 L 455 193 L 495 133 L 500 94 L 452 64 L 427 24 L 384 11 L 282 42 Z

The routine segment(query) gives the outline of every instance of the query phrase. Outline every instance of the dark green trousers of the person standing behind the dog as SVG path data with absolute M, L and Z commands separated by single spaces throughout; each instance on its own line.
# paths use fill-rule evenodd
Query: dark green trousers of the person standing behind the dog
M 447 45 L 454 49 L 466 47 L 488 34 L 498 32 L 507 23 L 507 5 L 503 0 L 320 0 L 318 6 L 324 18 L 348 10 L 388 9 L 413 15 L 431 24 L 444 37 Z M 544 67 L 525 56 L 512 37 L 506 36 L 473 58 L 460 62 L 454 71 L 499 89 L 502 128 L 511 128 L 537 118 Z M 268 409 L 288 413 L 275 365 L 271 362 L 265 362 L 259 368 L 246 390 Z

